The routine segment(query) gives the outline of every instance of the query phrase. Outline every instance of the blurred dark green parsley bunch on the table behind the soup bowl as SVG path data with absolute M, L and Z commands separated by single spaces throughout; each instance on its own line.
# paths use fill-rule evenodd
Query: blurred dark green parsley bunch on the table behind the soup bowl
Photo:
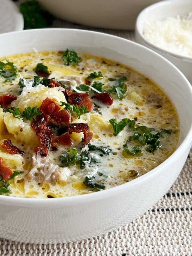
M 51 26 L 54 20 L 53 16 L 44 11 L 36 0 L 21 3 L 20 12 L 24 18 L 24 29 L 46 28 Z

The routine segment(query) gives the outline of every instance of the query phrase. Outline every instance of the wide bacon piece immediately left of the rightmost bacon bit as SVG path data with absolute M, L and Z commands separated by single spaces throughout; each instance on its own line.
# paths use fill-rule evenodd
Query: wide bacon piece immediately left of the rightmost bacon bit
M 89 98 L 89 93 L 78 93 L 78 92 L 68 92 L 68 102 L 78 107 L 85 106 L 88 111 L 92 111 L 94 104 Z

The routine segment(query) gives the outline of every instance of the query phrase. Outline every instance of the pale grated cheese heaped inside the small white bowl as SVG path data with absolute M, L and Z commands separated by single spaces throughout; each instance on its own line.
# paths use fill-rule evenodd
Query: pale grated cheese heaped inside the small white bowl
M 146 21 L 143 36 L 164 50 L 192 57 L 192 12 L 186 17 Z

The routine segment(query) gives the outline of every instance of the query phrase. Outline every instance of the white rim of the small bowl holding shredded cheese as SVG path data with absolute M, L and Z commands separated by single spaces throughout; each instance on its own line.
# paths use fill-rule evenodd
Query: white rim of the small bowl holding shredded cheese
M 187 0 L 187 2 L 189 2 L 189 0 Z M 177 54 L 177 53 L 174 53 L 174 52 L 170 52 L 170 51 L 167 51 L 167 50 L 164 50 L 158 46 L 156 46 L 155 44 L 152 44 L 150 43 L 144 36 L 143 36 L 143 33 L 141 33 L 140 29 L 139 29 L 139 26 L 141 24 L 141 22 L 143 22 L 143 18 L 142 16 L 147 13 L 148 11 L 151 11 L 152 9 L 155 9 L 155 8 L 158 8 L 159 6 L 165 6 L 166 5 L 171 5 L 171 4 L 176 4 L 176 3 L 181 3 L 180 0 L 164 0 L 164 1 L 160 1 L 160 2 L 157 2 L 155 4 L 151 4 L 149 5 L 148 7 L 146 7 L 145 9 L 143 9 L 140 14 L 138 15 L 137 17 L 137 20 L 136 20 L 136 23 L 135 23 L 135 31 L 138 32 L 139 36 L 142 38 L 142 40 L 147 44 L 149 45 L 150 47 L 153 47 L 154 49 L 160 51 L 160 52 L 163 52 L 165 54 L 169 54 L 175 58 L 178 58 L 178 59 L 182 59 L 182 60 L 187 60 L 188 62 L 192 62 L 192 57 L 188 57 L 188 56 L 184 56 L 184 55 L 181 55 L 181 54 Z

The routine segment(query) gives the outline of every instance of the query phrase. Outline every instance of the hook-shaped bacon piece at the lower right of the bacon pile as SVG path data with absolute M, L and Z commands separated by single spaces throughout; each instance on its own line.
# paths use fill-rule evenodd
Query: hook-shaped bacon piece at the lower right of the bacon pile
M 68 132 L 83 132 L 84 133 L 84 142 L 82 143 L 83 145 L 87 145 L 90 140 L 93 137 L 93 133 L 89 131 L 89 125 L 88 124 L 69 124 L 68 127 Z

